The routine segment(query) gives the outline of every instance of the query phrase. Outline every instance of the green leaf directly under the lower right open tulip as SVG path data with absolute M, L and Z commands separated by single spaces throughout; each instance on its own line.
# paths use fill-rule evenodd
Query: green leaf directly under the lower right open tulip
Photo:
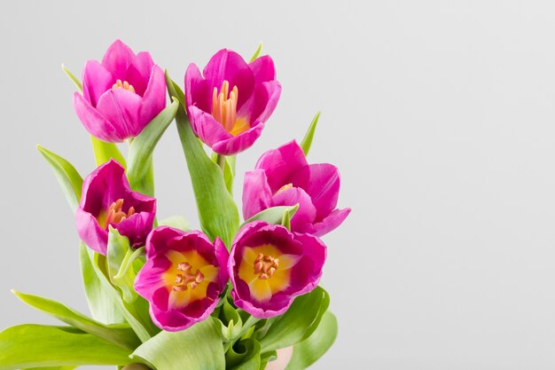
M 329 304 L 330 296 L 322 287 L 297 297 L 262 338 L 262 352 L 289 347 L 308 338 L 318 327 Z

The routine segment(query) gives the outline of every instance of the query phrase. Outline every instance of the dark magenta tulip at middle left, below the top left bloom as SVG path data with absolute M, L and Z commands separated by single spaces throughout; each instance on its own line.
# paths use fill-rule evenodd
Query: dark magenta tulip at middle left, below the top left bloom
M 125 170 L 117 161 L 107 161 L 82 183 L 82 196 L 75 212 L 82 241 L 106 256 L 108 227 L 129 238 L 132 247 L 144 245 L 152 230 L 156 200 L 131 191 Z

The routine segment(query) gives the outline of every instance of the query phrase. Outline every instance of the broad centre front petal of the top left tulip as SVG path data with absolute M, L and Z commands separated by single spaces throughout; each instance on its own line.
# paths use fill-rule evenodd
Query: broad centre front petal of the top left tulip
M 98 100 L 97 110 L 113 123 L 120 138 L 136 137 L 145 128 L 139 122 L 142 98 L 124 89 L 106 91 Z

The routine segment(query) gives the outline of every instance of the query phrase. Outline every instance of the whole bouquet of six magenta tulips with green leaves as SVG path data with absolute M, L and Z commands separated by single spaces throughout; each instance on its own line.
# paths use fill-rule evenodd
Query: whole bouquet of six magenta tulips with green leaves
M 236 155 L 261 136 L 281 92 L 272 59 L 260 51 L 249 62 L 218 51 L 202 73 L 191 64 L 184 91 L 148 52 L 121 41 L 85 64 L 82 81 L 64 67 L 97 168 L 83 179 L 69 161 L 38 150 L 74 211 L 92 318 L 13 291 L 65 325 L 4 330 L 0 370 L 291 370 L 328 350 L 337 321 L 318 286 L 326 257 L 320 237 L 350 209 L 336 209 L 338 170 L 307 161 L 318 116 L 301 144 L 267 151 L 245 174 L 244 221 L 232 196 Z M 201 231 L 181 216 L 156 216 L 152 153 L 171 122 Z

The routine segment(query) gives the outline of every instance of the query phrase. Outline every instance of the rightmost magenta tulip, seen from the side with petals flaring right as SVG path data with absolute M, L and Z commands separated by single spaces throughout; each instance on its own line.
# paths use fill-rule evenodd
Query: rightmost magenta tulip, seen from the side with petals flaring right
M 293 140 L 270 150 L 246 172 L 243 216 L 248 219 L 263 209 L 294 206 L 293 232 L 322 236 L 338 227 L 351 209 L 335 209 L 340 193 L 340 173 L 328 163 L 309 164 Z

